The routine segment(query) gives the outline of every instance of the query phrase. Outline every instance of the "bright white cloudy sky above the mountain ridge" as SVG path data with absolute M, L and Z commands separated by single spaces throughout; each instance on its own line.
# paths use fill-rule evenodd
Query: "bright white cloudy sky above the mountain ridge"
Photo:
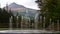
M 27 8 L 32 8 L 32 9 L 39 9 L 37 6 L 37 3 L 35 3 L 36 0 L 0 0 L 0 5 L 1 7 L 6 6 L 6 4 L 11 4 L 13 2 L 19 4 L 19 5 L 23 5 Z

